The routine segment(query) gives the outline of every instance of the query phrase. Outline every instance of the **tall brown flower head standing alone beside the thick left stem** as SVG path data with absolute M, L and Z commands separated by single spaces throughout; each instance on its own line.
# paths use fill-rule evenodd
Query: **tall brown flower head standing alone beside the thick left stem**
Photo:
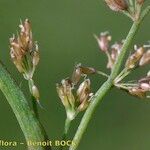
M 10 56 L 25 79 L 32 79 L 36 66 L 39 62 L 39 49 L 33 42 L 31 24 L 28 19 L 21 23 L 20 33 L 17 37 L 10 38 Z

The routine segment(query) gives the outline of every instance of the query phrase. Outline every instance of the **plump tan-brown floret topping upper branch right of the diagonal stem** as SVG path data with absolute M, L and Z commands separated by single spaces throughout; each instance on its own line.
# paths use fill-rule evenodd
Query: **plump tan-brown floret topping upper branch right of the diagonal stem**
M 140 47 L 138 48 L 135 53 L 133 53 L 131 56 L 129 56 L 129 58 L 126 61 L 126 68 L 127 69 L 133 69 L 137 63 L 139 62 L 139 60 L 141 59 L 141 57 L 144 54 L 144 48 Z

